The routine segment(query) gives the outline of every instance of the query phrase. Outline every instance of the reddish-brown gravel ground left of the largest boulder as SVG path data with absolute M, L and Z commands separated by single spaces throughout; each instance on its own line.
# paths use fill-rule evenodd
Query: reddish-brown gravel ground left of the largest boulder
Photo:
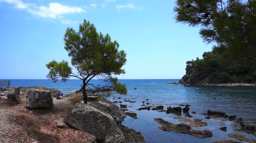
M 53 110 L 28 110 L 26 94 L 20 95 L 21 104 L 0 97 L 0 142 L 96 142 L 95 136 L 65 126 L 65 117 L 73 108 L 70 100 L 53 100 Z

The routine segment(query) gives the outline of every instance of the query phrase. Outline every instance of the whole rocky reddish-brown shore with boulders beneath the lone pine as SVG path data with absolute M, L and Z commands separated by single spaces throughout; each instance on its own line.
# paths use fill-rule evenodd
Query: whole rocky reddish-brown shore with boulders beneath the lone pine
M 3 117 L 10 119 L 8 122 L 1 120 L 0 142 L 145 142 L 140 132 L 121 125 L 126 115 L 109 100 L 101 98 L 97 102 L 72 105 L 70 98 L 62 98 L 56 89 L 19 87 L 19 90 L 20 95 L 16 92 L 16 96 L 9 99 L 7 97 L 14 94 L 14 88 L 0 89 L 0 120 Z M 28 123 L 24 120 L 25 123 L 18 123 L 16 129 L 11 129 L 10 126 L 16 124 L 11 118 L 20 116 Z M 45 124 L 50 120 L 58 121 L 53 125 Z M 17 129 L 28 128 L 28 124 L 30 131 L 20 139 L 16 136 Z M 71 136 L 80 133 L 80 137 L 66 138 L 68 132 Z M 41 138 L 42 133 L 52 137 Z

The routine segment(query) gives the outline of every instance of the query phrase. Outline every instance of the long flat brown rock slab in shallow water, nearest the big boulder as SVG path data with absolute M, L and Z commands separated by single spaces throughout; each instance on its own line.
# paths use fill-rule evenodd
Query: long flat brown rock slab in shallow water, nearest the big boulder
M 192 130 L 189 125 L 185 125 L 185 124 L 175 125 L 173 123 L 166 122 L 161 118 L 155 118 L 155 121 L 158 122 L 160 125 L 162 125 L 161 127 L 159 127 L 159 129 L 162 129 L 164 131 L 186 133 L 188 135 L 196 136 L 198 138 L 212 137 L 212 132 L 210 132 L 209 130 Z

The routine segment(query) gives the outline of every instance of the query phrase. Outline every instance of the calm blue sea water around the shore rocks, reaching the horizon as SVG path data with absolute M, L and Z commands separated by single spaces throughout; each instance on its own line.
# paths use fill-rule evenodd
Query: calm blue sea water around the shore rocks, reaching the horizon
M 225 118 L 206 119 L 207 110 L 222 111 L 228 116 L 242 118 L 246 125 L 256 126 L 256 88 L 206 88 L 206 87 L 186 87 L 176 84 L 179 79 L 121 79 L 121 83 L 127 85 L 127 95 L 113 93 L 110 101 L 122 101 L 120 104 L 127 105 L 127 110 L 136 113 L 138 119 L 127 116 L 122 125 L 141 132 L 146 142 L 214 142 L 224 139 L 238 141 L 228 136 L 229 133 L 238 133 L 247 138 L 256 139 L 255 134 L 245 133 L 240 130 L 239 123 Z M 95 85 L 102 85 L 101 80 L 92 80 Z M 80 89 L 82 80 L 71 79 L 67 82 L 53 82 L 48 79 L 13 79 L 10 86 L 45 86 L 61 91 L 64 96 Z M 125 102 L 132 101 L 132 102 Z M 134 101 L 134 102 L 133 102 Z M 167 114 L 157 110 L 137 110 L 144 104 L 156 107 L 163 105 L 167 107 L 179 107 L 180 104 L 191 105 L 189 113 L 192 117 L 185 114 Z M 194 111 L 195 114 L 191 112 Z M 170 123 L 182 123 L 180 119 L 200 119 L 207 123 L 207 126 L 192 128 L 195 130 L 210 130 L 213 133 L 211 138 L 197 138 L 187 134 L 176 132 L 166 132 L 159 127 L 155 118 L 162 118 Z M 227 127 L 227 131 L 220 128 Z

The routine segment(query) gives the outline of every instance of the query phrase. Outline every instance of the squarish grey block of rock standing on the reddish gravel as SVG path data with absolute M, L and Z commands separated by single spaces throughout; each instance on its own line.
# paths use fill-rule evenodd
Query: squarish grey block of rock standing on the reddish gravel
M 49 91 L 30 89 L 26 95 L 26 108 L 53 108 L 53 99 Z

